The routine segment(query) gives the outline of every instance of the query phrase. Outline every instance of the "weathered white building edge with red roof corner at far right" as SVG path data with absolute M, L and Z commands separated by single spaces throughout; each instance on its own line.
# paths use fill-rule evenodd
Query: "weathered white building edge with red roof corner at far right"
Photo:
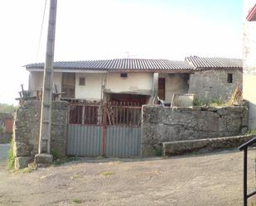
M 249 101 L 249 129 L 256 129 L 256 2 L 244 1 L 244 99 Z

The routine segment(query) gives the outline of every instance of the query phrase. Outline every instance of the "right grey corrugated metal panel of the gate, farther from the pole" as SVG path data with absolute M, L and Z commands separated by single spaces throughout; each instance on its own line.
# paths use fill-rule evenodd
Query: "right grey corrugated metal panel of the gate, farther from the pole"
M 107 127 L 106 155 L 138 157 L 141 151 L 141 127 Z

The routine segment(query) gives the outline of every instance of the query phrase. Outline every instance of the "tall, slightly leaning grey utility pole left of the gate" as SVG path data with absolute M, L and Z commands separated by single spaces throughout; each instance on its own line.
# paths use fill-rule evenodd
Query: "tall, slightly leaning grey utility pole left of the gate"
M 41 100 L 41 122 L 38 148 L 39 154 L 50 154 L 52 76 L 56 34 L 56 9 L 57 0 L 51 0 L 46 44 L 46 64 L 44 68 L 43 93 Z

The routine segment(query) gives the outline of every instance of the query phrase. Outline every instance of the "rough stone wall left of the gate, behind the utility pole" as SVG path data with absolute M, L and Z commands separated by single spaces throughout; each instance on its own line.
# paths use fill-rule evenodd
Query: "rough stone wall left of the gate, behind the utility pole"
M 67 106 L 66 102 L 53 102 L 52 106 L 51 152 L 59 156 L 65 156 Z M 13 149 L 17 164 L 31 160 L 38 153 L 40 117 L 39 101 L 27 101 L 17 108 L 13 126 Z M 23 157 L 23 163 L 18 163 L 20 157 Z

